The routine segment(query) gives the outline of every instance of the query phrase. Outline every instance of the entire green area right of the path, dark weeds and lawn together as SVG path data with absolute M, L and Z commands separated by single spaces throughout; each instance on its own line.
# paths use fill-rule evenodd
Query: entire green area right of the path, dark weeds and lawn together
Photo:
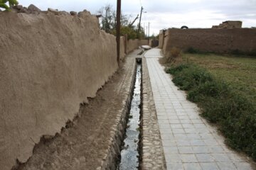
M 166 72 L 216 123 L 230 147 L 256 159 L 256 60 L 219 55 L 184 55 Z

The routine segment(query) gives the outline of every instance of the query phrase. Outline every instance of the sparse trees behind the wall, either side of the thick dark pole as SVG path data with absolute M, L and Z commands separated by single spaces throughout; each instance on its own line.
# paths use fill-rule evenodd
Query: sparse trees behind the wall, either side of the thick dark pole
M 102 18 L 100 19 L 100 28 L 107 33 L 116 35 L 117 14 L 110 4 L 103 6 L 98 11 Z M 131 26 L 129 21 L 130 16 L 121 13 L 121 35 L 127 35 L 128 39 L 144 38 L 144 29 L 141 28 L 141 33 L 138 33 L 138 26 Z

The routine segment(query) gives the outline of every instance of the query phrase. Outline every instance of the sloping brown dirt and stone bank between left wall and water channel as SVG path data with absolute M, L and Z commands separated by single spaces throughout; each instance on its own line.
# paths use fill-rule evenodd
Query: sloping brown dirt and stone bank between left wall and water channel
M 44 137 L 33 149 L 33 156 L 14 169 L 97 169 L 105 156 L 110 138 L 110 128 L 117 111 L 124 107 L 125 86 L 132 79 L 134 59 L 125 64 L 110 81 L 81 107 L 80 114 L 55 137 Z

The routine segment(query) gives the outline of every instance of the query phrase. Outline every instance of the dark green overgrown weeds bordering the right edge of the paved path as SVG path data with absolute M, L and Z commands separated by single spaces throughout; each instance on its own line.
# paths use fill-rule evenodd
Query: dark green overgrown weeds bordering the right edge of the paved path
M 195 64 L 166 69 L 174 84 L 186 90 L 188 100 L 198 103 L 202 115 L 216 123 L 230 147 L 256 159 L 256 107 L 250 96 L 213 77 Z

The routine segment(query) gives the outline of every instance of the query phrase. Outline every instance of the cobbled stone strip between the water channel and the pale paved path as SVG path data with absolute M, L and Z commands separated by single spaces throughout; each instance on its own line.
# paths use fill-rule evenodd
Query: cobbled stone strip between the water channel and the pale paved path
M 156 118 L 156 108 L 149 80 L 146 58 L 142 58 L 142 162 L 140 168 L 166 169 L 164 149 L 161 143 L 159 125 Z

